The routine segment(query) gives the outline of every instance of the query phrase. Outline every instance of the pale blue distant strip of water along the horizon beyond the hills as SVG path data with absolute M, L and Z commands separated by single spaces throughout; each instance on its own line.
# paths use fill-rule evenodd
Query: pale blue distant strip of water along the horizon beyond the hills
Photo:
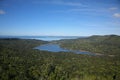
M 53 41 L 53 40 L 61 40 L 61 39 L 76 39 L 76 38 L 84 38 L 81 36 L 0 36 L 0 38 L 20 38 L 20 39 L 36 39 L 43 41 Z

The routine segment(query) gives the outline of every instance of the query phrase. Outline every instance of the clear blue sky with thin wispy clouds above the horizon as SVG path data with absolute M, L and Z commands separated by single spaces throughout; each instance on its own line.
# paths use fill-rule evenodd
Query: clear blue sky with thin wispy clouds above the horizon
M 120 35 L 120 0 L 0 0 L 0 35 Z

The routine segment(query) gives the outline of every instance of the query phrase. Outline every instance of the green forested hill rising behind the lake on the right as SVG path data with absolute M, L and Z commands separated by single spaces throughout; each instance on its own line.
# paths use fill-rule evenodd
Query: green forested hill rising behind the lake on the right
M 120 36 L 90 36 L 71 40 L 60 40 L 62 47 L 73 50 L 84 50 L 104 55 L 120 55 Z

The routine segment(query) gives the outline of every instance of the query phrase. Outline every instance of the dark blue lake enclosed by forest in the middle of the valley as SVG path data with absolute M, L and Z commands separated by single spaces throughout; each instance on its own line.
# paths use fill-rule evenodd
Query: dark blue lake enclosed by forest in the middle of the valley
M 57 44 L 44 44 L 44 45 L 41 45 L 41 46 L 37 46 L 34 49 L 38 49 L 38 50 L 42 50 L 42 51 L 50 51 L 50 52 L 73 52 L 73 53 L 76 53 L 76 54 L 90 54 L 90 55 L 93 55 L 93 53 L 90 53 L 90 52 L 64 49 L 64 48 L 61 48 Z

